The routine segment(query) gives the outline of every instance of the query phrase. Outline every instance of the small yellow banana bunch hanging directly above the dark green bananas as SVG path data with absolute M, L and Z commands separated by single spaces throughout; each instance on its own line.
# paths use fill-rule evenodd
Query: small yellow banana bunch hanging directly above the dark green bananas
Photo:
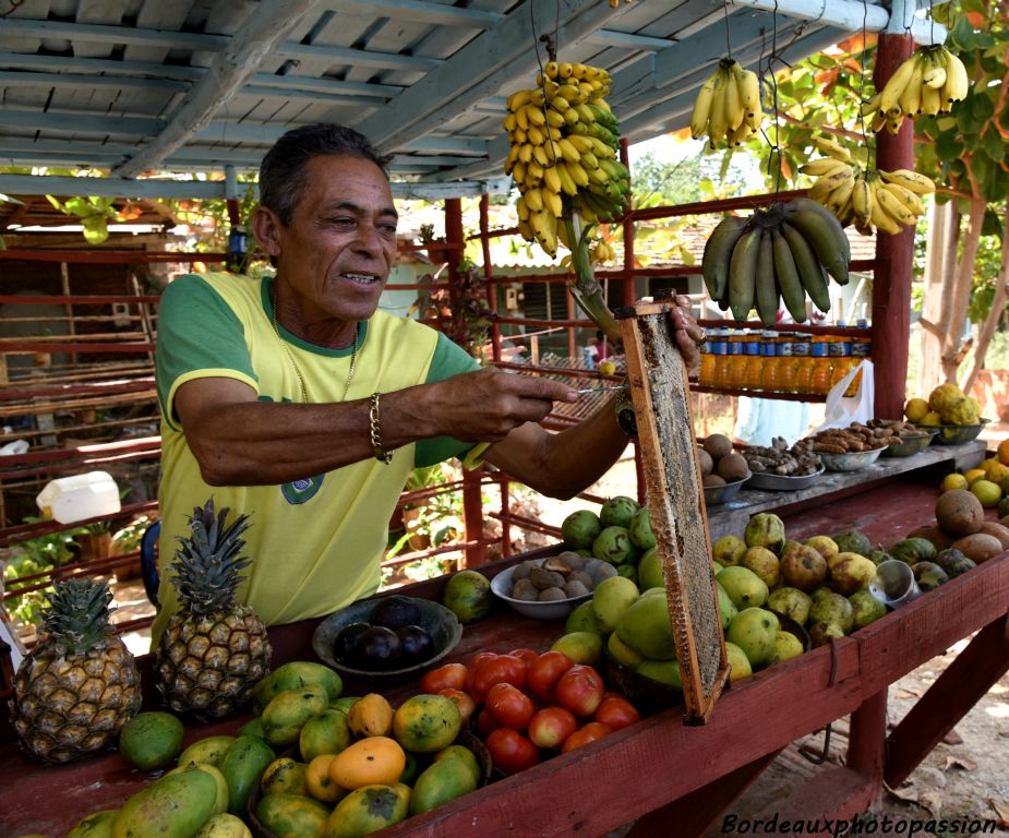
M 708 147 L 742 145 L 764 121 L 760 106 L 760 79 L 753 70 L 723 58 L 714 74 L 706 81 L 694 100 L 690 136 L 707 134 Z

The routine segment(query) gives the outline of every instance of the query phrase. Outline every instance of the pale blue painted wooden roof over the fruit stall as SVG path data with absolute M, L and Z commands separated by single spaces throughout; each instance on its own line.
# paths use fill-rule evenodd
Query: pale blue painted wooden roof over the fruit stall
M 779 7 L 792 11 L 771 11 Z M 505 183 L 505 98 L 531 85 L 546 60 L 543 36 L 560 60 L 610 72 L 622 133 L 639 142 L 686 124 L 726 43 L 747 67 L 766 61 L 772 43 L 794 61 L 863 21 L 885 26 L 887 9 L 879 0 L 23 0 L 0 17 L 0 164 L 125 178 L 242 171 L 283 132 L 332 121 L 395 155 L 399 196 L 475 194 Z M 2 188 L 11 182 L 0 191 L 24 192 Z M 179 189 L 201 197 L 224 187 Z

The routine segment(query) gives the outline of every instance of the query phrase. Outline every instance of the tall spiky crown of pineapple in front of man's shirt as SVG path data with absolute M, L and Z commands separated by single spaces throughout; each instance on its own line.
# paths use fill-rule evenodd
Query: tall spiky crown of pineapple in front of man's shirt
M 214 499 L 203 507 L 193 508 L 189 518 L 190 536 L 176 540 L 171 563 L 172 583 L 179 591 L 182 607 L 196 614 L 211 614 L 229 609 L 235 603 L 235 591 L 241 582 L 241 572 L 251 561 L 240 553 L 245 547 L 242 534 L 249 529 L 249 515 L 239 515 L 227 523 L 231 512 L 227 506 L 214 513 Z

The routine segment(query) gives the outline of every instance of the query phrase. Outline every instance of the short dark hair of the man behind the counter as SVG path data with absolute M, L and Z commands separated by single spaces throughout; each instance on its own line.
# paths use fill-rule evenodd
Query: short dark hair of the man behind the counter
M 273 210 L 284 225 L 291 223 L 308 180 L 308 164 L 322 155 L 345 155 L 371 160 L 388 177 L 392 156 L 381 155 L 364 134 L 347 125 L 316 123 L 285 133 L 260 165 L 260 203 Z

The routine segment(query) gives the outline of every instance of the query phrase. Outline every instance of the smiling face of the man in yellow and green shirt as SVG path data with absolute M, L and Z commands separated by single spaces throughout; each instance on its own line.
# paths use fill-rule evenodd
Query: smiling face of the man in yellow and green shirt
M 388 180 L 360 157 L 313 157 L 307 168 L 290 225 L 265 211 L 271 222 L 263 246 L 276 256 L 280 280 L 298 297 L 301 325 L 367 320 L 396 261 L 397 215 Z

